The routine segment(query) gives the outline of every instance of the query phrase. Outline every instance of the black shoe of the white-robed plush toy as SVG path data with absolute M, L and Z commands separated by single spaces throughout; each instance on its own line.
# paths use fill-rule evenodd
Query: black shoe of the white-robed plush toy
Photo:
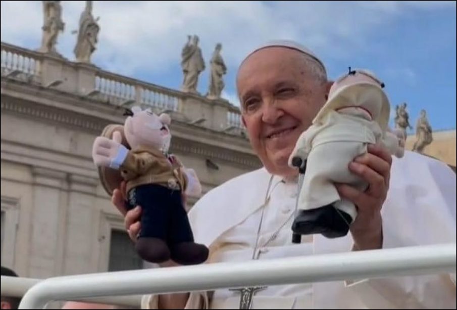
M 312 210 L 299 210 L 292 231 L 300 235 L 322 234 L 327 238 L 347 235 L 352 218 L 329 204 Z

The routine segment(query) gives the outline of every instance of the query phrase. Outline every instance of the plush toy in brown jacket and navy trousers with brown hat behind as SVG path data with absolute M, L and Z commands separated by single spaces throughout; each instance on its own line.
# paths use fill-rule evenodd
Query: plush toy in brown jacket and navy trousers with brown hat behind
M 198 264 L 208 248 L 194 243 L 183 193 L 198 196 L 201 186 L 192 169 L 169 155 L 170 116 L 132 108 L 122 125 L 108 125 L 93 143 L 92 157 L 108 194 L 126 181 L 127 206 L 142 207 L 136 250 L 150 262 L 172 259 Z

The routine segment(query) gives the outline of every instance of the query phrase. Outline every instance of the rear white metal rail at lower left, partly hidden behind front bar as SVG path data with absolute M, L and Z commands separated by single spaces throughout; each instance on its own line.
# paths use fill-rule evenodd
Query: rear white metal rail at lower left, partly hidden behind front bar
M 30 288 L 32 288 L 34 285 L 41 281 L 43 280 L 2 276 L 1 295 L 10 297 L 22 297 Z M 108 296 L 95 298 L 81 298 L 75 299 L 75 301 L 117 304 L 121 306 L 139 308 L 141 307 L 141 297 L 141 295 Z

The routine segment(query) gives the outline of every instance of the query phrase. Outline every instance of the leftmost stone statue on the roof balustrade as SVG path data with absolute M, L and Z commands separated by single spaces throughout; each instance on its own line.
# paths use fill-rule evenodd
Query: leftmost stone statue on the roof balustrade
M 59 55 L 56 51 L 57 36 L 59 31 L 64 31 L 65 23 L 62 21 L 62 6 L 60 1 L 43 1 L 44 22 L 41 48 L 42 53 Z

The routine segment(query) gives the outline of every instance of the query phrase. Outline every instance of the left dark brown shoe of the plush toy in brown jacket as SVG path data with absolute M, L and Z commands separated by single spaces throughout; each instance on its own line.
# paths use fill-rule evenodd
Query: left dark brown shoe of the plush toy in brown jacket
M 142 259 L 149 262 L 160 263 L 170 259 L 168 245 L 159 238 L 138 238 L 136 241 L 136 251 Z

